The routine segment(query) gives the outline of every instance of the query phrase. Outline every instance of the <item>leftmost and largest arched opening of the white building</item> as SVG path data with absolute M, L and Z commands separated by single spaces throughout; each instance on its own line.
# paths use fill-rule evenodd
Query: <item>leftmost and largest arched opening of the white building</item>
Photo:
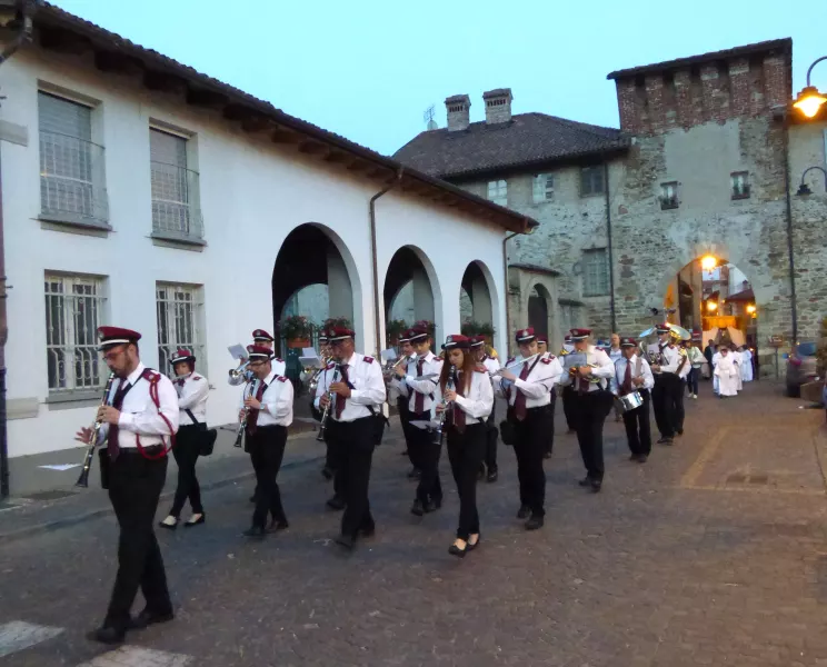
M 303 315 L 313 325 L 329 317 L 355 320 L 355 299 L 359 292 L 352 257 L 341 240 L 328 228 L 307 222 L 293 229 L 281 243 L 272 270 L 273 328 L 291 315 Z M 316 346 L 316 335 L 311 340 Z M 277 350 L 287 361 L 287 375 L 298 378 L 301 350 L 289 350 L 277 337 Z

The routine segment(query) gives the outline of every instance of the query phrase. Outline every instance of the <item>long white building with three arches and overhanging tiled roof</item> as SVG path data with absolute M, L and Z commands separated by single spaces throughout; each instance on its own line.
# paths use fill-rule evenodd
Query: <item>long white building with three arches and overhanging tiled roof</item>
M 141 331 L 162 372 L 195 347 L 211 424 L 237 415 L 227 346 L 309 285 L 328 285 L 329 315 L 369 354 L 408 285 L 438 337 L 459 330 L 465 290 L 505 347 L 504 239 L 530 218 L 46 3 L 0 87 L 9 456 L 76 445 L 103 323 Z

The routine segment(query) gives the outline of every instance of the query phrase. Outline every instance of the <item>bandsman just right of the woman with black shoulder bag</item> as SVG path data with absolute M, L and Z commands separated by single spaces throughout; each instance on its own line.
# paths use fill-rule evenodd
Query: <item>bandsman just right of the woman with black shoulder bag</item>
M 247 346 L 250 370 L 255 376 L 251 392 L 241 394 L 239 419 L 247 412 L 247 448 L 256 470 L 256 509 L 246 537 L 262 538 L 268 512 L 271 530 L 289 526 L 276 481 L 287 444 L 287 427 L 292 424 L 292 382 L 272 367 L 272 350 L 260 345 Z

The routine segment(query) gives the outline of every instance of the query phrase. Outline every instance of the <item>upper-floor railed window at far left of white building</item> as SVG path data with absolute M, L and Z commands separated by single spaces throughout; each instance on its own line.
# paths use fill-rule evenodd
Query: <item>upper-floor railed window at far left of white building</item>
M 103 226 L 109 202 L 103 147 L 54 132 L 40 132 L 40 208 L 49 218 Z

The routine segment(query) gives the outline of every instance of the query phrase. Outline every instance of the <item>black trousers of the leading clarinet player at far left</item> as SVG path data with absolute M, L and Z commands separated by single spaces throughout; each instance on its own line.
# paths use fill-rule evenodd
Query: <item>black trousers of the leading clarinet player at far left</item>
M 155 448 L 153 448 L 155 449 Z M 152 454 L 152 456 L 157 456 Z M 140 587 L 147 609 L 170 614 L 172 603 L 153 525 L 167 479 L 168 458 L 150 460 L 138 450 L 121 450 L 109 464 L 109 500 L 118 518 L 118 574 L 104 625 L 126 628 Z

